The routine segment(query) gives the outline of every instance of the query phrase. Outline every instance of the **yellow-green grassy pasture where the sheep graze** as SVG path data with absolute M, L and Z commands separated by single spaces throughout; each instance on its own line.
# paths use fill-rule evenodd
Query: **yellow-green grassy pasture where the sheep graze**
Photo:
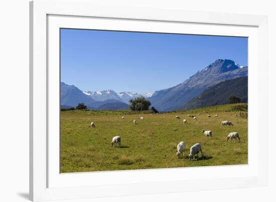
M 127 110 L 62 111 L 61 172 L 247 164 L 247 119 L 235 116 L 239 114 L 237 105 L 152 115 Z M 188 114 L 197 115 L 197 121 Z M 188 120 L 187 125 L 183 119 Z M 231 120 L 234 126 L 223 127 L 222 120 Z M 90 126 L 92 121 L 95 128 Z M 205 139 L 202 129 L 212 130 L 212 139 Z M 226 142 L 230 132 L 238 132 L 241 142 Z M 121 148 L 110 146 L 116 135 L 121 136 Z M 185 157 L 178 159 L 180 141 L 185 142 L 186 149 Z M 201 143 L 204 157 L 190 161 L 190 147 L 195 143 Z

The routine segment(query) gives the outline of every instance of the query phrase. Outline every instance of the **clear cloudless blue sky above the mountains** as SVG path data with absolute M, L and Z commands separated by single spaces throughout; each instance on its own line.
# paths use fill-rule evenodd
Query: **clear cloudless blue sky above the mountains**
M 247 66 L 247 38 L 61 29 L 61 81 L 84 91 L 154 93 L 217 59 Z

